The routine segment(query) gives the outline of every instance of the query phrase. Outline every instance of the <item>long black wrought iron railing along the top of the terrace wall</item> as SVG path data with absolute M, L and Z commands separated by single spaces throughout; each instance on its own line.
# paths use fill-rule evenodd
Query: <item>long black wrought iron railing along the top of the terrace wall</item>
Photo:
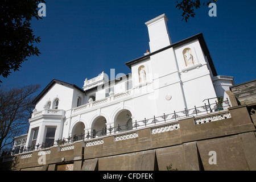
M 215 102 L 213 104 L 210 104 L 209 101 L 213 99 L 215 100 Z M 148 118 L 148 119 L 144 118 L 141 121 L 135 120 L 131 123 L 127 123 L 126 125 L 105 127 L 102 130 L 98 130 L 98 131 L 94 129 L 92 132 L 88 131 L 87 133 L 81 133 L 81 135 L 73 135 L 73 137 L 69 136 L 68 138 L 58 139 L 51 143 L 42 143 L 42 144 L 36 144 L 36 145 L 30 146 L 30 147 L 24 147 L 19 152 L 13 149 L 13 150 L 10 150 L 9 152 L 6 152 L 5 154 L 14 155 L 14 154 L 23 153 L 23 152 L 40 150 L 40 149 L 48 148 L 51 146 L 59 146 L 62 144 L 73 143 L 79 140 L 89 140 L 89 139 L 94 139 L 98 137 L 105 137 L 106 135 L 122 133 L 129 130 L 142 129 L 143 127 L 155 126 L 155 125 L 159 125 L 167 122 L 175 122 L 177 121 L 177 119 L 183 119 L 189 116 L 197 116 L 201 114 L 212 113 L 215 111 L 228 109 L 228 107 L 230 107 L 228 98 L 225 101 L 223 100 L 223 97 L 209 98 L 204 101 L 208 101 L 208 103 L 207 104 L 205 103 L 203 106 L 200 106 L 200 107 L 194 106 L 192 109 L 184 109 L 183 111 L 174 111 L 173 113 L 170 113 L 170 114 L 164 113 L 163 115 L 160 115 L 158 117 L 155 117 L 154 115 L 154 117 L 152 118 Z

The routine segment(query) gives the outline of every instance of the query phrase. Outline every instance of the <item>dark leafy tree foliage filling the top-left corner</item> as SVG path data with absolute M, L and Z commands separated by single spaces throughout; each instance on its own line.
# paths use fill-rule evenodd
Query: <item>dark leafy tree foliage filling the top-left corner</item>
M 38 56 L 34 43 L 40 42 L 31 29 L 31 19 L 38 16 L 38 4 L 44 0 L 0 1 L 0 76 L 7 78 L 11 71 L 19 71 L 27 57 Z M 0 80 L 0 82 L 2 82 Z

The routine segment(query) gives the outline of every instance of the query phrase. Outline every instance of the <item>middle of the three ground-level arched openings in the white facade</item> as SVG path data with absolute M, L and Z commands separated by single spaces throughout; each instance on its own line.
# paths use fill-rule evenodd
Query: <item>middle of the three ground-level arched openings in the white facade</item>
M 106 135 L 106 118 L 103 116 L 94 119 L 92 124 L 92 138 L 102 137 Z

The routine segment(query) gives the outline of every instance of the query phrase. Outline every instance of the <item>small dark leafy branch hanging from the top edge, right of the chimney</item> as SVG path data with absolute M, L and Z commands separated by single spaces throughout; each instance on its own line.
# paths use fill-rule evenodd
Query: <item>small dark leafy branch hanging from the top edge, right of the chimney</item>
M 183 19 L 185 19 L 186 22 L 188 22 L 189 17 L 195 17 L 195 9 L 199 9 L 201 5 L 209 5 L 212 2 L 217 2 L 217 0 L 181 0 L 177 1 L 176 8 L 179 8 L 183 11 Z

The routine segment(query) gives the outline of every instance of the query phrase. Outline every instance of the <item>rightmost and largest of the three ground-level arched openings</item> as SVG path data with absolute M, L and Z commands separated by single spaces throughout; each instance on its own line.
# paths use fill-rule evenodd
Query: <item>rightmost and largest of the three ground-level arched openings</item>
M 114 121 L 114 131 L 121 132 L 133 129 L 133 122 L 131 119 L 131 112 L 127 109 L 119 111 Z

